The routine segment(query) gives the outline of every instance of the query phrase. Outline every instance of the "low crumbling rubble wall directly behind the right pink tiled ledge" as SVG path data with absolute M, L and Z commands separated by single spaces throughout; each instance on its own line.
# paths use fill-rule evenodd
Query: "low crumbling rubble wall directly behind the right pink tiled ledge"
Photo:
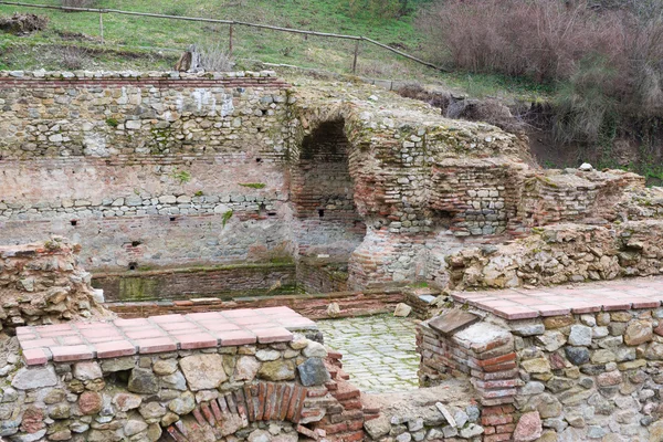
M 461 250 L 448 256 L 450 287 L 515 287 L 661 274 L 663 224 L 554 224 L 506 245 Z

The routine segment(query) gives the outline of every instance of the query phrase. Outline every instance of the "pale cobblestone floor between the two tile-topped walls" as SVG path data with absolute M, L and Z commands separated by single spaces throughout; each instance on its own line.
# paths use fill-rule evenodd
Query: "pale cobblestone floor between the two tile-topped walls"
M 364 392 L 418 388 L 415 323 L 391 315 L 318 320 L 325 344 L 343 354 L 344 371 Z

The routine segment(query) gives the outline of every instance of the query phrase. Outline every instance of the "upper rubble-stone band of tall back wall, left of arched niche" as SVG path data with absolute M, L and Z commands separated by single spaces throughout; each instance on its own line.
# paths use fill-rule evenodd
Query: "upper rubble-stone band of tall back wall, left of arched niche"
M 0 73 L 4 158 L 284 154 L 287 84 L 261 73 Z M 277 141 L 280 139 L 280 143 Z

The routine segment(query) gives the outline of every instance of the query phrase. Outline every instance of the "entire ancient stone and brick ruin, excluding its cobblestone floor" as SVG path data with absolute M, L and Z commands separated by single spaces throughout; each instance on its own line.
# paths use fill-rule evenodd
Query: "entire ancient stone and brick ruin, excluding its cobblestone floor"
M 0 73 L 0 438 L 663 440 L 661 189 L 292 83 Z M 312 319 L 397 305 L 367 394 Z

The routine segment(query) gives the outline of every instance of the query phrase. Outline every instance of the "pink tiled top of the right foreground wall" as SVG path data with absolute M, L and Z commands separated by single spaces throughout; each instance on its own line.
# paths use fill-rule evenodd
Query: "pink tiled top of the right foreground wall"
M 453 293 L 453 298 L 506 319 L 592 312 L 656 308 L 663 302 L 663 277 L 639 277 L 576 286 L 511 288 Z

